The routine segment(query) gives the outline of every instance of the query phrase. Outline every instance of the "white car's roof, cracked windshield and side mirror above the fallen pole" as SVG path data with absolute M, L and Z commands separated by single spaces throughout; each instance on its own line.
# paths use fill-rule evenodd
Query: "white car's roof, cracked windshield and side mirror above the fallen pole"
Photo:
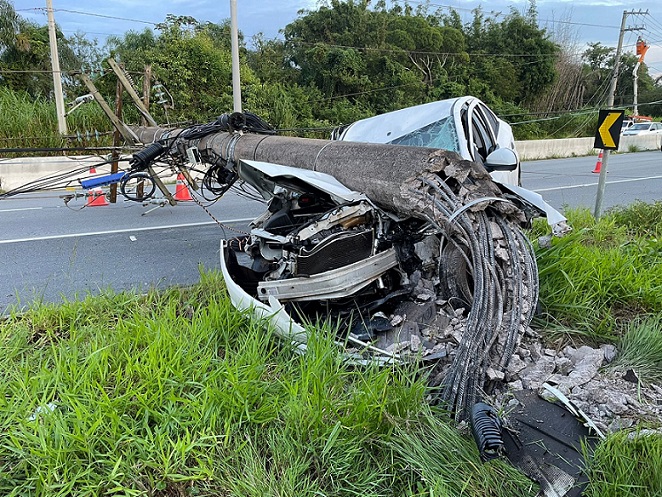
M 520 185 L 520 160 L 512 128 L 472 96 L 362 119 L 337 128 L 331 138 L 451 150 L 483 164 L 500 183 Z

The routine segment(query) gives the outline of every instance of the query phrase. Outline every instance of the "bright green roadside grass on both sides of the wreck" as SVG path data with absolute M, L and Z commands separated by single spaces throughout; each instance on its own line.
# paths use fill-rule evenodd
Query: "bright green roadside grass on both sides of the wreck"
M 634 367 L 643 381 L 662 378 L 660 292 L 633 296 L 622 280 L 642 272 L 640 284 L 659 282 L 659 263 L 640 253 L 659 233 L 659 209 L 636 204 L 599 223 L 575 211 L 575 234 L 538 249 L 549 315 L 574 340 L 618 341 L 614 367 Z M 606 264 L 607 247 L 632 269 L 622 280 L 611 267 L 584 277 L 591 265 L 577 261 Z M 608 279 L 619 280 L 611 293 Z M 627 314 L 641 319 L 626 319 L 628 302 L 637 305 Z M 606 317 L 590 319 L 595 309 L 614 321 L 608 332 Z M 542 331 L 553 339 L 550 327 Z M 424 376 L 351 366 L 328 330 L 310 333 L 307 353 L 295 353 L 231 307 L 216 273 L 191 288 L 11 314 L 0 323 L 0 493 L 536 494 L 507 463 L 480 463 L 470 436 L 426 403 Z M 612 435 L 588 455 L 586 495 L 656 495 L 660 468 L 662 436 Z

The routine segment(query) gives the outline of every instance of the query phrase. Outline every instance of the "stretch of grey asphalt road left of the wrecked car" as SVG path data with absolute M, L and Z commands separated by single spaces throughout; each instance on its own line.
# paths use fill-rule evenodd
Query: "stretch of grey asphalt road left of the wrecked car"
M 228 194 L 208 207 L 215 219 L 194 202 L 143 215 L 155 206 L 118 200 L 80 209 L 83 199 L 67 207 L 61 193 L 0 201 L 0 314 L 110 288 L 193 284 L 201 268 L 219 268 L 220 240 L 246 232 L 264 210 Z

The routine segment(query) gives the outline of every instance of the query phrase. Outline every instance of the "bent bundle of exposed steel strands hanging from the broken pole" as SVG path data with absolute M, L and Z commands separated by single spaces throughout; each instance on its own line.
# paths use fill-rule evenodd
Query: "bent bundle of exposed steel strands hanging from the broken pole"
M 441 394 L 456 418 L 464 419 L 483 395 L 487 369 L 505 369 L 531 321 L 537 266 L 531 244 L 515 222 L 489 207 L 465 209 L 450 222 L 462 209 L 462 199 L 439 176 L 419 180 L 420 187 L 410 192 L 420 200 L 426 219 L 459 249 L 473 280 L 471 307 Z

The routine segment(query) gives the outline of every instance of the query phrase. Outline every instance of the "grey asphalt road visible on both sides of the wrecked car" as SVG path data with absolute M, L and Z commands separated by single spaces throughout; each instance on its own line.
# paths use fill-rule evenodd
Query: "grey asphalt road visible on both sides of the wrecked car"
M 525 162 L 522 184 L 552 206 L 595 205 L 597 157 Z M 640 199 L 662 200 L 662 153 L 612 155 L 605 209 Z M 118 202 L 69 207 L 59 195 L 34 194 L 0 200 L 0 314 L 31 302 L 58 302 L 104 289 L 188 285 L 200 268 L 219 267 L 221 238 L 245 231 L 263 205 L 226 195 L 209 207 L 212 219 L 194 202 L 144 207 Z M 76 210 L 79 209 L 79 210 Z

